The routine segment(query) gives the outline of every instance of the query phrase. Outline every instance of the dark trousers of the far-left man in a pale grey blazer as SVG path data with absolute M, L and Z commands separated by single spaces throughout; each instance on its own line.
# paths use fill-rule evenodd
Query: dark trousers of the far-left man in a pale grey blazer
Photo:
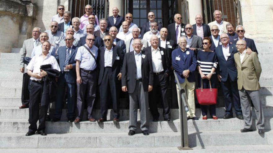
M 27 73 L 23 74 L 23 85 L 22 85 L 22 105 L 29 106 L 29 79 L 30 76 Z

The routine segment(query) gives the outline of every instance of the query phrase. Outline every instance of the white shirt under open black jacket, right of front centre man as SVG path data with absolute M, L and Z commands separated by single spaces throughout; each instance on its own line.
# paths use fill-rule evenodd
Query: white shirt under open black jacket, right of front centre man
M 153 71 L 154 71 L 154 73 L 162 72 L 164 69 L 163 69 L 163 65 L 162 65 L 162 57 L 161 57 L 160 50 L 158 47 L 157 47 L 157 49 L 154 49 L 153 47 L 151 47 L 151 49 L 152 49 Z

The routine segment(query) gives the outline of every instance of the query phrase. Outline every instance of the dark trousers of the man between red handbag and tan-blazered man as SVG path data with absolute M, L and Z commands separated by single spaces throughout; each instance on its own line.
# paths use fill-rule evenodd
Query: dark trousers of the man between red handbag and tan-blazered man
M 235 113 L 237 115 L 242 114 L 237 80 L 233 82 L 228 76 L 225 82 L 221 82 L 221 87 L 225 97 L 226 114 L 232 114 L 232 104 L 235 108 Z

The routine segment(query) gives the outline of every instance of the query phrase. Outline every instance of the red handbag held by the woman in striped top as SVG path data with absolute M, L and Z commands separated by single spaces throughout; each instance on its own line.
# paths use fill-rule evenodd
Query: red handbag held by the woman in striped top
M 203 89 L 203 79 L 201 89 L 196 89 L 196 97 L 200 105 L 214 105 L 217 102 L 217 88 L 211 88 L 209 80 L 209 89 Z

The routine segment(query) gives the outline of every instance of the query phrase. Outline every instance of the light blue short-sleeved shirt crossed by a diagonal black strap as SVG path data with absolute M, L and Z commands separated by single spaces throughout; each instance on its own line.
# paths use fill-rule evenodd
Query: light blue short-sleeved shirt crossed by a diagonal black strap
M 85 44 L 85 46 L 87 48 L 89 48 L 86 44 Z M 95 45 L 93 45 L 92 48 L 89 48 L 89 50 L 94 55 L 94 57 L 97 59 L 98 48 Z M 96 64 L 94 57 L 92 57 L 92 55 L 87 51 L 87 49 L 84 46 L 81 46 L 78 48 L 78 51 L 77 51 L 77 54 L 75 57 L 75 61 L 76 60 L 81 61 L 80 68 L 82 68 L 84 70 L 95 70 L 97 64 Z

